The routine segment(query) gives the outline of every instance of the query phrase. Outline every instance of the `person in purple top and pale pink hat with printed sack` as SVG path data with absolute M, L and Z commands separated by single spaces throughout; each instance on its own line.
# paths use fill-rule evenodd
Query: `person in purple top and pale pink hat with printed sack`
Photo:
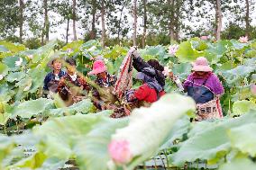
M 224 94 L 224 87 L 212 72 L 206 58 L 197 58 L 193 63 L 193 73 L 187 76 L 184 90 L 197 103 L 197 120 L 222 118 L 223 113 L 219 98 Z

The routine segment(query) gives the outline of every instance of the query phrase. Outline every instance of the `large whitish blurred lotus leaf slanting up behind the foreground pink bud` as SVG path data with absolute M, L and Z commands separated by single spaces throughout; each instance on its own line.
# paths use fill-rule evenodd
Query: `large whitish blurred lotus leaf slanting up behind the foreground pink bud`
M 134 110 L 129 125 L 117 130 L 112 137 L 112 141 L 125 140 L 129 143 L 133 160 L 127 169 L 132 170 L 142 161 L 155 156 L 170 138 L 178 118 L 193 110 L 194 101 L 180 94 L 166 94 L 150 108 Z

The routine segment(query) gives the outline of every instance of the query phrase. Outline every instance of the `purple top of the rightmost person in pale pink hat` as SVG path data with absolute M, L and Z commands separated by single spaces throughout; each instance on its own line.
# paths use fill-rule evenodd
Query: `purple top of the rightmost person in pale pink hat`
M 198 85 L 194 84 L 194 86 L 202 85 L 204 83 L 204 81 L 206 80 L 206 78 L 197 78 L 192 73 L 189 76 L 187 76 L 187 80 L 183 84 L 183 86 L 186 90 L 187 90 L 187 86 L 192 86 L 191 82 L 193 81 L 193 79 L 194 79 L 194 83 L 198 84 Z M 212 73 L 208 77 L 208 80 L 206 81 L 205 86 L 208 87 L 215 94 L 224 94 L 224 87 L 223 87 L 222 83 L 220 82 L 219 78 L 217 76 L 215 76 L 214 73 Z

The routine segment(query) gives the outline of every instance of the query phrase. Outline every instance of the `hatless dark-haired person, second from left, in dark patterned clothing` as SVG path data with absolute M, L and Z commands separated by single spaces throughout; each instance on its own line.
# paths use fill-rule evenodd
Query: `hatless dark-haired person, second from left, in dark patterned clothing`
M 58 92 L 67 106 L 82 100 L 89 90 L 86 80 L 78 76 L 76 66 L 74 58 L 66 59 L 67 74 L 59 80 Z

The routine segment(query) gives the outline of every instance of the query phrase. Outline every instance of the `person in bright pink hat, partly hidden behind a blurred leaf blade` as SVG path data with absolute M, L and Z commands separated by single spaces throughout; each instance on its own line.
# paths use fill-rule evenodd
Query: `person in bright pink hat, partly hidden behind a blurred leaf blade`
M 103 60 L 96 60 L 93 64 L 93 70 L 90 71 L 88 75 L 95 75 L 97 85 L 99 85 L 100 87 L 104 87 L 108 91 L 113 91 L 117 77 L 114 75 L 110 75 L 107 72 L 107 68 Z M 105 107 L 106 105 L 96 89 L 94 89 L 93 96 L 96 98 L 96 101 L 94 101 L 94 103 L 98 109 L 110 109 Z

